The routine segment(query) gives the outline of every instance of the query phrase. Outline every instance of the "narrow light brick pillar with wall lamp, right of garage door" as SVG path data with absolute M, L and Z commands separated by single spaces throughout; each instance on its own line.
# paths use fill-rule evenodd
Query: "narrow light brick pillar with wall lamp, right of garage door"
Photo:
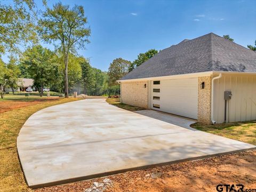
M 198 77 L 197 121 L 202 124 L 211 124 L 211 80 L 211 76 Z M 204 82 L 204 89 L 200 89 L 202 82 Z

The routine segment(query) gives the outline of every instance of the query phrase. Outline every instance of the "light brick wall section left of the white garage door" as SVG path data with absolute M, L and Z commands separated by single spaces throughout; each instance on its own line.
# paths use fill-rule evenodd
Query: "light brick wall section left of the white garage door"
M 146 88 L 145 88 L 146 84 Z M 122 82 L 122 103 L 148 108 L 148 82 Z

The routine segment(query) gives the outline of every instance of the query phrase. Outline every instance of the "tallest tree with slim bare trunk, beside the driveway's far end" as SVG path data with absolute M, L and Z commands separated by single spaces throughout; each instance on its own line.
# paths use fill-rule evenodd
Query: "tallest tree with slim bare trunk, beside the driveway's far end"
M 47 43 L 53 43 L 63 54 L 65 63 L 65 97 L 68 97 L 68 55 L 89 43 L 90 28 L 86 28 L 87 18 L 83 6 L 57 3 L 53 9 L 47 8 L 39 20 L 39 34 Z

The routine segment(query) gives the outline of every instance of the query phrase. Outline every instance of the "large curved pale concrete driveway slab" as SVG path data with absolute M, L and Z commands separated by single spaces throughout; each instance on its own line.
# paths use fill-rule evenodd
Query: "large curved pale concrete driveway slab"
M 254 148 L 86 99 L 38 111 L 17 139 L 31 188 Z

